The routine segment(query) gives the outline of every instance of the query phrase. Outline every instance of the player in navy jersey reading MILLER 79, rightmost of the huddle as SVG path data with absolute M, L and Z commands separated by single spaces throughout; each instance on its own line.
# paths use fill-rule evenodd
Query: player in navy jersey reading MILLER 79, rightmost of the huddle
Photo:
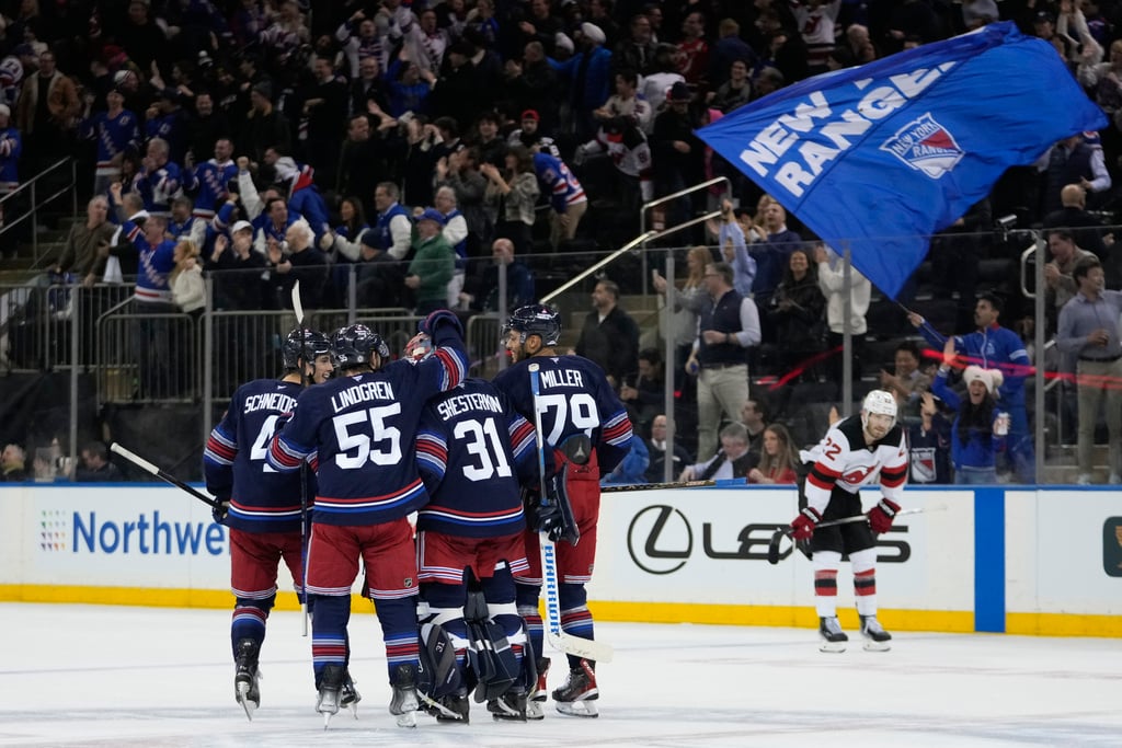
M 542 591 L 541 550 L 537 533 L 551 532 L 557 542 L 561 627 L 576 637 L 592 639 L 592 615 L 585 584 L 591 580 L 596 560 L 596 523 L 600 514 L 600 475 L 611 472 L 631 449 L 632 425 L 627 410 L 608 384 L 604 370 L 579 355 L 560 355 L 553 347 L 561 334 L 559 314 L 541 304 L 515 310 L 506 325 L 506 350 L 514 364 L 499 372 L 495 385 L 506 393 L 527 421 L 534 421 L 534 396 L 530 360 L 541 367 L 541 423 L 545 449 L 552 451 L 552 468 L 564 478 L 571 520 L 535 511 L 525 534 L 530 571 L 515 574 L 518 612 L 526 620 L 535 653 L 542 652 L 542 618 L 537 599 Z M 589 447 L 590 442 L 590 449 Z M 546 464 L 546 471 L 551 465 Z M 536 482 L 534 483 L 536 486 Z M 558 505 L 553 505 L 557 507 Z M 579 537 L 578 537 L 579 536 Z M 558 711 L 596 717 L 598 699 L 596 663 L 569 655 L 569 677 L 553 691 Z M 550 661 L 540 657 L 537 684 L 527 704 L 527 717 L 541 719 Z M 578 705 L 579 704 L 579 705 Z

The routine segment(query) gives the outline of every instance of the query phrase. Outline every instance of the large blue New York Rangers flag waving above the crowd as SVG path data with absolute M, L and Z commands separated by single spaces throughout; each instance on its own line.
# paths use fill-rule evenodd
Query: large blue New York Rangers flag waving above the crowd
M 1003 22 L 781 89 L 698 136 L 895 297 L 1006 168 L 1105 124 L 1055 48 Z

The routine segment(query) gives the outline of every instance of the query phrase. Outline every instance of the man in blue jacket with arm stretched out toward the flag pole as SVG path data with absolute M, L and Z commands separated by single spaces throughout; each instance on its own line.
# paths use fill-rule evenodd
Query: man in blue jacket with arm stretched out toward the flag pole
M 1005 451 L 1017 480 L 1021 483 L 1034 483 L 1036 452 L 1029 431 L 1029 414 L 1024 406 L 1024 380 L 1032 373 L 1032 360 L 1024 350 L 1021 338 L 999 324 L 1001 310 L 1000 296 L 988 292 L 982 294 L 974 307 L 977 332 L 955 335 L 950 340 L 955 342 L 955 352 L 967 363 L 1001 371 L 997 399 L 1001 409 L 1009 413 L 1010 418 Z M 910 312 L 908 320 L 932 348 L 942 349 L 948 339 L 939 334 L 921 315 Z

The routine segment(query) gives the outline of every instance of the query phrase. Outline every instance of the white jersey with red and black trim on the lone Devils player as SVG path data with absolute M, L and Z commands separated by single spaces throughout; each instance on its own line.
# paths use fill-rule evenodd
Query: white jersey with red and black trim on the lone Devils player
M 866 446 L 859 414 L 834 424 L 809 456 L 813 467 L 804 492 L 807 504 L 819 512 L 826 511 L 835 488 L 857 493 L 862 487 L 879 483 L 884 498 L 899 502 L 908 482 L 903 428 L 893 426 L 884 438 Z

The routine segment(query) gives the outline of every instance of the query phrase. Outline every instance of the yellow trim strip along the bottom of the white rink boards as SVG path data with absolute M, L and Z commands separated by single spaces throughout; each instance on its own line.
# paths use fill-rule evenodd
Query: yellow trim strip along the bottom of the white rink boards
M 53 587 L 45 584 L 0 584 L 0 601 L 66 602 L 149 608 L 231 609 L 233 595 L 222 590 L 137 589 L 129 587 Z M 357 611 L 370 603 L 352 598 Z M 714 606 L 679 602 L 590 602 L 596 620 L 645 624 L 700 624 L 719 626 L 780 626 L 816 628 L 812 608 L 795 606 Z M 282 592 L 276 610 L 300 610 L 296 595 Z M 842 626 L 857 629 L 857 613 L 838 611 Z M 877 618 L 895 631 L 946 631 L 973 634 L 974 613 L 953 610 L 882 610 Z M 1122 616 L 1075 613 L 1006 613 L 1006 634 L 1030 636 L 1095 636 L 1122 638 Z

